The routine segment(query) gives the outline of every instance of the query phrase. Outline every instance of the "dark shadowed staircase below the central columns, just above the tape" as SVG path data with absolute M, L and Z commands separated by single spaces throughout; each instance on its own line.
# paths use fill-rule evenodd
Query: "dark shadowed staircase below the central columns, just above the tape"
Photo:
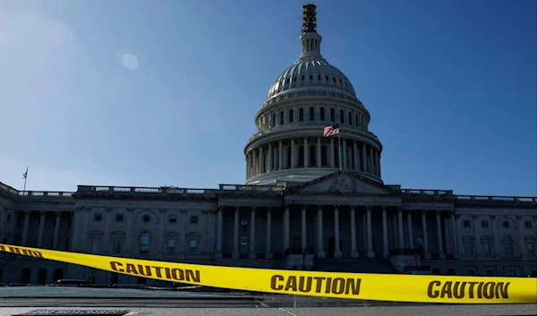
M 397 274 L 396 268 L 388 259 L 334 259 L 316 258 L 315 269 L 328 272 L 384 273 Z

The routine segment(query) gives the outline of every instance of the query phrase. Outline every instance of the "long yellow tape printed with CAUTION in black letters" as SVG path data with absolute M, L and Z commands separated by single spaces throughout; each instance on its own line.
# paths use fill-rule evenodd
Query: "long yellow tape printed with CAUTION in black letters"
M 59 252 L 2 243 L 0 251 L 136 277 L 244 291 L 416 303 L 537 303 L 537 278 L 235 268 Z

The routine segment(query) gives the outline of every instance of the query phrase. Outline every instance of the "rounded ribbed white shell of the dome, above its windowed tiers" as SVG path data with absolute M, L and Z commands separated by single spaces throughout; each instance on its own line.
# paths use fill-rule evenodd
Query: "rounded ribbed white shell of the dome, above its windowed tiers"
M 345 74 L 318 55 L 318 58 L 300 58 L 281 73 L 268 90 L 267 99 L 281 93 L 313 87 L 343 91 L 356 98 L 353 84 Z

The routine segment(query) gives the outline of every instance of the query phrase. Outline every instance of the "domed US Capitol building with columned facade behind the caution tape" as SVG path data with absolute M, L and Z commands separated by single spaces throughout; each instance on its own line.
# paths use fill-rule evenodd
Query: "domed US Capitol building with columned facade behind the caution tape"
M 246 142 L 245 184 L 217 189 L 0 183 L 0 241 L 69 252 L 269 269 L 537 276 L 537 198 L 456 195 L 382 182 L 382 144 L 303 6 L 302 54 Z M 323 128 L 338 124 L 339 135 Z M 339 144 L 340 147 L 339 148 Z M 0 254 L 0 280 L 163 282 Z

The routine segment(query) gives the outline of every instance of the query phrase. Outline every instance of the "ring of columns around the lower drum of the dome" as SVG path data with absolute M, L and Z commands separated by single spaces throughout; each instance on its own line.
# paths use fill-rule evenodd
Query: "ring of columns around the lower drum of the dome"
M 309 142 L 311 138 L 315 138 L 315 141 Z M 321 164 L 321 146 L 323 145 L 328 146 L 326 154 L 328 167 L 337 167 L 336 157 L 339 156 L 339 152 L 334 144 L 334 137 L 330 137 L 329 144 L 328 141 L 321 141 L 323 138 L 306 136 L 303 137 L 302 142 L 301 139 L 291 139 L 286 142 L 286 146 L 284 146 L 284 141 L 278 141 L 274 146 L 272 142 L 269 142 L 267 145 L 251 149 L 246 155 L 247 178 L 271 171 L 285 170 L 287 166 L 290 166 L 291 169 L 298 167 L 298 146 L 300 144 L 303 144 L 304 168 L 323 167 Z M 310 165 L 310 144 L 315 146 L 315 166 Z M 341 138 L 341 147 L 342 159 L 338 159 L 338 163 L 343 169 L 362 171 L 380 177 L 379 150 L 370 144 L 345 138 Z M 291 161 L 287 161 L 287 150 L 291 150 Z

